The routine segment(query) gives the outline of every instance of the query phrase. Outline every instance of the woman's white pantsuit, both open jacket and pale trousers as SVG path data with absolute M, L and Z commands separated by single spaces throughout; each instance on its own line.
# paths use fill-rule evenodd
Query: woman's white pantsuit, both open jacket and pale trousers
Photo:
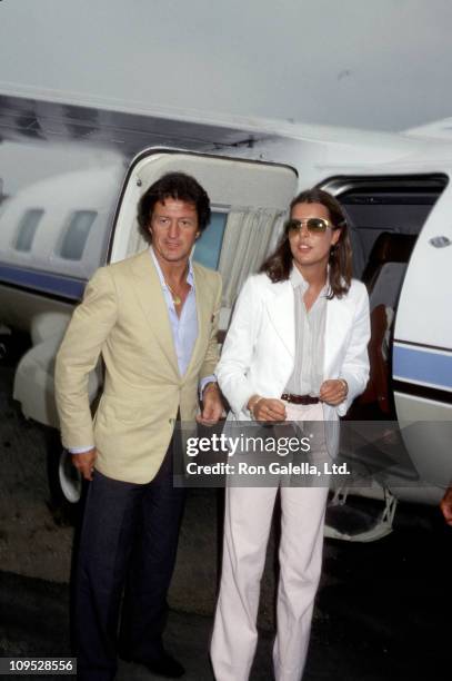
M 369 303 L 352 282 L 346 296 L 328 300 L 323 379 L 344 378 L 346 401 L 338 407 L 287 405 L 288 421 L 338 421 L 369 376 Z M 217 368 L 231 405 L 230 421 L 247 421 L 249 398 L 280 398 L 294 364 L 294 302 L 289 280 L 251 277 L 239 297 Z M 335 446 L 333 443 L 332 451 Z M 331 455 L 331 443 L 329 445 Z M 223 565 L 211 645 L 217 681 L 247 681 L 257 645 L 260 581 L 278 487 L 227 490 Z M 281 486 L 277 681 L 299 681 L 307 658 L 319 584 L 327 486 Z

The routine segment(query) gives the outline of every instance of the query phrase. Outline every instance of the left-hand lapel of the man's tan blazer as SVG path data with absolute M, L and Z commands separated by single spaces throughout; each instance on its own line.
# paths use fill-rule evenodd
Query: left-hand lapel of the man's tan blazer
M 171 368 L 179 378 L 178 357 L 172 338 L 168 307 L 158 272 L 148 250 L 144 250 L 131 263 L 131 270 L 133 274 L 131 282 L 141 309 Z

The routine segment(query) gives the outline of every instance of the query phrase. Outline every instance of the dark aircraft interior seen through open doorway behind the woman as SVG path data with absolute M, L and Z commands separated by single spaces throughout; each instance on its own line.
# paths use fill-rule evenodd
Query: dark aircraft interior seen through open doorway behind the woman
M 353 274 L 368 287 L 371 376 L 348 418 L 396 418 L 392 375 L 394 318 L 404 275 L 431 209 L 448 184 L 444 175 L 333 178 L 350 220 Z

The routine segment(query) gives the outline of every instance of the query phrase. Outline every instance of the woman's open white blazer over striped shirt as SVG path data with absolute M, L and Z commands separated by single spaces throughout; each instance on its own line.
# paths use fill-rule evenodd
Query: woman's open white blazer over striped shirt
M 344 378 L 346 399 L 323 404 L 325 421 L 343 416 L 369 379 L 369 297 L 365 286 L 352 280 L 342 298 L 327 300 L 323 381 Z M 224 340 L 217 376 L 232 421 L 251 418 L 247 409 L 254 395 L 280 398 L 294 366 L 295 324 L 291 282 L 273 284 L 265 274 L 251 276 L 240 293 Z

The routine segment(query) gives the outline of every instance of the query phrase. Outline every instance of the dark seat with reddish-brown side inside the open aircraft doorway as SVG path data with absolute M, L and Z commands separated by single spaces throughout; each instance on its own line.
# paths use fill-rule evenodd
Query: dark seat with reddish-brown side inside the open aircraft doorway
M 368 287 L 371 309 L 369 342 L 370 377 L 358 404 L 376 404 L 391 412 L 389 395 L 388 337 L 391 334 L 403 277 L 418 235 L 383 231 L 376 238 L 362 280 Z

